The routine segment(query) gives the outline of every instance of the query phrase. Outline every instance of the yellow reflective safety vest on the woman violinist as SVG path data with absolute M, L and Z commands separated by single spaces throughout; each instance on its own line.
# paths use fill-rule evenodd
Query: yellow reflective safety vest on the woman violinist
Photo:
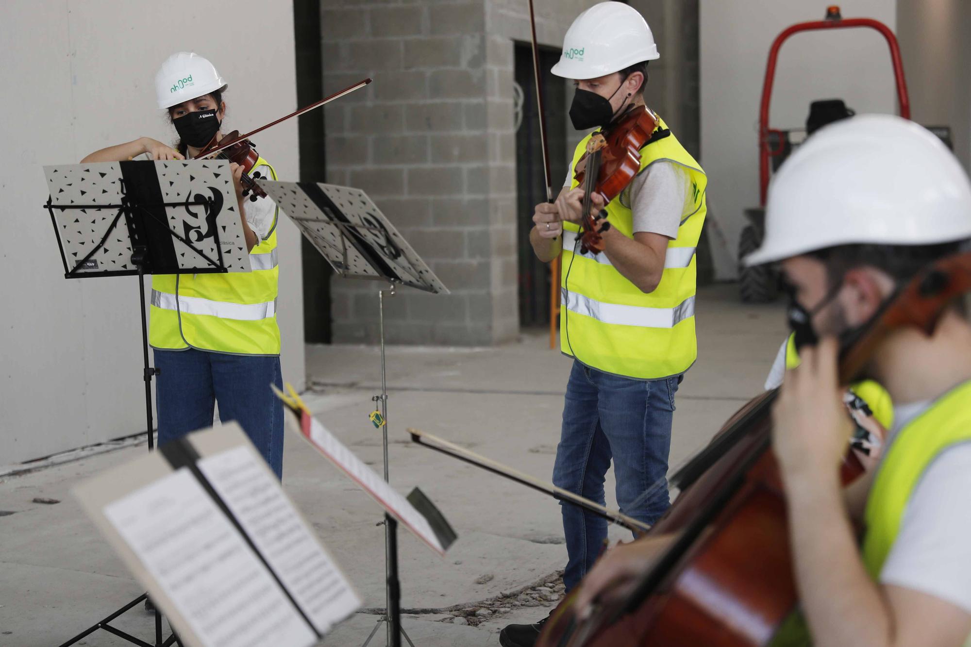
M 270 168 L 260 157 L 252 170 Z M 269 199 L 269 198 L 260 198 Z M 235 355 L 280 355 L 277 326 L 277 219 L 250 251 L 251 272 L 159 274 L 151 278 L 149 343 L 162 350 L 196 348 Z

